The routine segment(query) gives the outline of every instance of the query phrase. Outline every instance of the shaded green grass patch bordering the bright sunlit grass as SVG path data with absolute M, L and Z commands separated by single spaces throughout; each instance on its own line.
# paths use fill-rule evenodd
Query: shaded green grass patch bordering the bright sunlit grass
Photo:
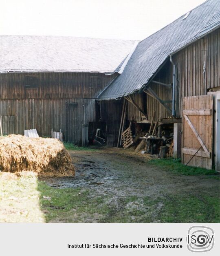
M 52 188 L 39 181 L 40 205 L 46 222 L 98 222 L 106 213 L 103 196 L 90 197 L 90 190 Z

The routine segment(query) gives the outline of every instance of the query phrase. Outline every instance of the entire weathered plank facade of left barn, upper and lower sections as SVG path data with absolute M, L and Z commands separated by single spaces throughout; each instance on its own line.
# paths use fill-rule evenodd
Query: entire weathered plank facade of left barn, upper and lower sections
M 37 77 L 37 88 L 24 88 L 26 75 Z M 102 88 L 90 88 L 90 75 L 101 77 Z M 0 115 L 4 133 L 24 134 L 37 128 L 40 136 L 50 136 L 51 129 L 67 131 L 72 142 L 81 144 L 82 125 L 96 121 L 95 98 L 114 75 L 94 73 L 13 73 L 0 74 Z M 68 103 L 75 103 L 73 116 L 66 119 Z M 15 120 L 9 123 L 9 119 Z

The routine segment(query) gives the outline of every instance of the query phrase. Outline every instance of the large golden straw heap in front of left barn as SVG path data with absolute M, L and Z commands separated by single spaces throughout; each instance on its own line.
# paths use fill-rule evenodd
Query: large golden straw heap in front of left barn
M 50 138 L 9 135 L 0 138 L 0 171 L 33 171 L 38 176 L 74 176 L 70 155 L 62 142 Z

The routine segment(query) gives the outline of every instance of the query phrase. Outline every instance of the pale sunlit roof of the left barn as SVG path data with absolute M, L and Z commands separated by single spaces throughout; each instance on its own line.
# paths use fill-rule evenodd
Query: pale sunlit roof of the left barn
M 0 35 L 1 72 L 117 72 L 135 41 Z

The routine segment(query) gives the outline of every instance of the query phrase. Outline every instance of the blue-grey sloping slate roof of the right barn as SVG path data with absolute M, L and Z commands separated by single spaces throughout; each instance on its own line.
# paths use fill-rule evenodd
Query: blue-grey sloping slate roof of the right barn
M 121 75 L 99 99 L 117 99 L 142 89 L 169 55 L 220 27 L 220 0 L 208 0 L 139 42 Z

